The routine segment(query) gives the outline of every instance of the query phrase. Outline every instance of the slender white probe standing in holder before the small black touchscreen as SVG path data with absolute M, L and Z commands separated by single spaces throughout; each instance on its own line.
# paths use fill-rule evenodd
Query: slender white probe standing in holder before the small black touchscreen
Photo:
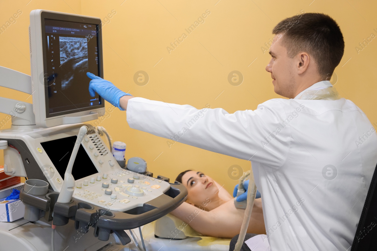
M 57 200 L 58 203 L 69 203 L 72 199 L 72 195 L 75 190 L 75 178 L 72 175 L 72 167 L 75 163 L 78 149 L 80 148 L 81 142 L 83 141 L 87 131 L 87 126 L 81 126 L 80 130 L 78 131 L 77 140 L 75 142 L 71 157 L 69 158 L 66 172 L 64 173 L 64 183 L 59 193 Z

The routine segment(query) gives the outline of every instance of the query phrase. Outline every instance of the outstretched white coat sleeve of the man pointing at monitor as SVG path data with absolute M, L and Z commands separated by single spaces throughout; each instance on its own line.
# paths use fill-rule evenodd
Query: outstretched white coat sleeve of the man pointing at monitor
M 221 108 L 198 110 L 134 97 L 128 101 L 127 122 L 133 129 L 159 137 L 280 167 L 291 139 L 289 123 L 282 126 L 287 114 L 278 100 L 268 100 L 254 111 L 229 114 Z

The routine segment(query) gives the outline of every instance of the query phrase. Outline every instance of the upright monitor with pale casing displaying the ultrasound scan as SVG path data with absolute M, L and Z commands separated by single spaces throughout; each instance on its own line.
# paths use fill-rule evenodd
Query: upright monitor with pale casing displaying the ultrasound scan
M 81 123 L 104 115 L 89 95 L 89 71 L 103 78 L 101 20 L 34 10 L 30 13 L 33 111 L 39 127 Z

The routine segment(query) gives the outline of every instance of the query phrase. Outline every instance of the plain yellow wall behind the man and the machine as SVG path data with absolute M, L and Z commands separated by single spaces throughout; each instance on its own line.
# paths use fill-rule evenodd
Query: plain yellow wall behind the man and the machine
M 1 3 L 0 24 L 18 9 L 23 14 L 0 34 L 0 65 L 30 74 L 28 26 L 32 9 L 89 15 L 103 21 L 114 10 L 116 14 L 106 19 L 103 27 L 107 80 L 134 96 L 148 99 L 190 104 L 196 108 L 210 104 L 211 108 L 221 107 L 229 113 L 254 110 L 259 103 L 280 97 L 273 92 L 270 74 L 265 71 L 270 56 L 261 49 L 273 38 L 274 25 L 301 10 L 324 12 L 339 23 L 346 43 L 343 59 L 335 70 L 338 76 L 335 86 L 341 96 L 351 99 L 372 123 L 377 123 L 377 41 L 373 39 L 359 52 L 355 48 L 371 33 L 377 35 L 376 7 L 375 1 L 355 0 L 289 3 L 277 0 L 7 0 Z M 204 23 L 188 34 L 185 28 L 206 10 L 210 14 Z M 186 33 L 187 38 L 169 53 L 166 47 L 182 33 Z M 133 75 L 139 70 L 148 73 L 147 85 L 133 82 Z M 227 81 L 233 70 L 244 76 L 239 86 Z M 0 88 L 0 92 L 3 97 L 31 102 L 28 94 L 4 88 Z M 5 114 L 0 114 L 0 119 L 3 118 Z M 238 164 L 244 170 L 250 168 L 248 161 L 181 143 L 169 148 L 167 139 L 130 129 L 125 112 L 113 111 L 100 125 L 110 132 L 113 140 L 127 143 L 127 158 L 143 157 L 153 173 L 171 179 L 186 169 L 202 170 L 232 191 L 236 181 L 229 178 L 229 167 Z M 10 123 L 3 128 L 9 126 Z

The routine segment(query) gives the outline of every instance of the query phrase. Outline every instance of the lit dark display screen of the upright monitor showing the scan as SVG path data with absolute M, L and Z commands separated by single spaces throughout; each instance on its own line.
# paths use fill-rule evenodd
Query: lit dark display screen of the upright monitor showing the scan
M 103 107 L 97 93 L 90 96 L 86 76 L 100 72 L 97 25 L 58 20 L 44 24 L 46 117 Z

